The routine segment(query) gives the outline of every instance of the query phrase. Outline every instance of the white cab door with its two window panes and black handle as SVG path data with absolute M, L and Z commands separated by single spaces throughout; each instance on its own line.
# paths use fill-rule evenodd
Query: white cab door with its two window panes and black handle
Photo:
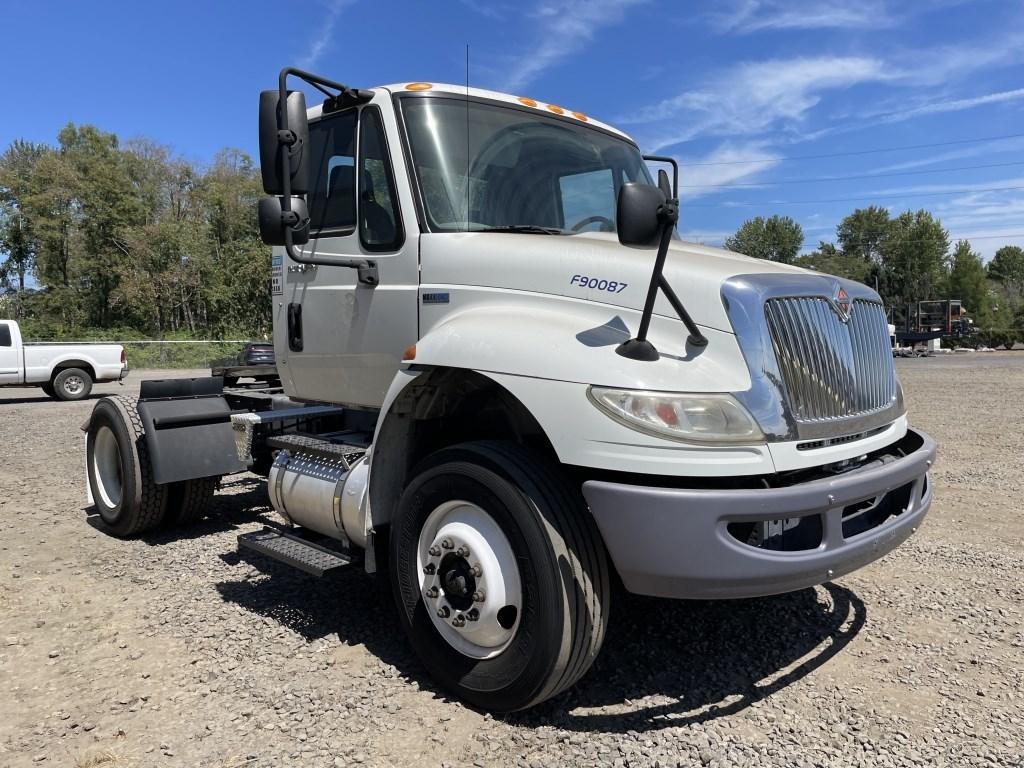
M 369 104 L 312 119 L 310 240 L 303 255 L 361 256 L 355 269 L 309 266 L 274 249 L 274 347 L 288 394 L 380 407 L 418 338 L 419 228 L 393 108 L 383 91 Z M 403 215 L 404 213 L 404 215 Z

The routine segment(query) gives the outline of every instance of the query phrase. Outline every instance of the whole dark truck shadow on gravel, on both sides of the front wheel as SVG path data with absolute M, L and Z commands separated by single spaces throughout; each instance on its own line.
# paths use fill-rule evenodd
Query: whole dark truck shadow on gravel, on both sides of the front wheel
M 216 585 L 221 597 L 311 642 L 366 645 L 407 679 L 447 696 L 404 642 L 390 595 L 358 566 L 315 580 L 255 554 L 268 578 Z M 863 602 L 836 584 L 757 600 L 690 602 L 628 596 L 604 648 L 573 688 L 526 713 L 523 727 L 647 731 L 734 715 L 814 672 L 860 632 Z

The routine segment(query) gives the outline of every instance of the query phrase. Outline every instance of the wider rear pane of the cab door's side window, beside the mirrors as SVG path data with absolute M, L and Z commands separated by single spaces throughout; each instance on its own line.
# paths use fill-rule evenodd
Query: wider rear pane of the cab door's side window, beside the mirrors
M 309 228 L 355 228 L 355 111 L 309 124 Z

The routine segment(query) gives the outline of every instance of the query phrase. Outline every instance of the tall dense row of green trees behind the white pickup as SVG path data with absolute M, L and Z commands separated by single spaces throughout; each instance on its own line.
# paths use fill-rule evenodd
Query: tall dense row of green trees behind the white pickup
M 146 139 L 69 124 L 0 156 L 0 316 L 36 338 L 262 336 L 269 248 L 258 168 L 200 166 Z

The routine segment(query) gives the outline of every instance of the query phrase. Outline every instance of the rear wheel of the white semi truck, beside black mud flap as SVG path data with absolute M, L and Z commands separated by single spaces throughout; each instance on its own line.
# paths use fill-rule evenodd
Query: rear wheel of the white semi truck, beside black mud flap
M 153 479 L 136 398 L 118 395 L 96 403 L 86 435 L 89 489 L 106 528 L 119 537 L 159 525 L 167 485 Z

